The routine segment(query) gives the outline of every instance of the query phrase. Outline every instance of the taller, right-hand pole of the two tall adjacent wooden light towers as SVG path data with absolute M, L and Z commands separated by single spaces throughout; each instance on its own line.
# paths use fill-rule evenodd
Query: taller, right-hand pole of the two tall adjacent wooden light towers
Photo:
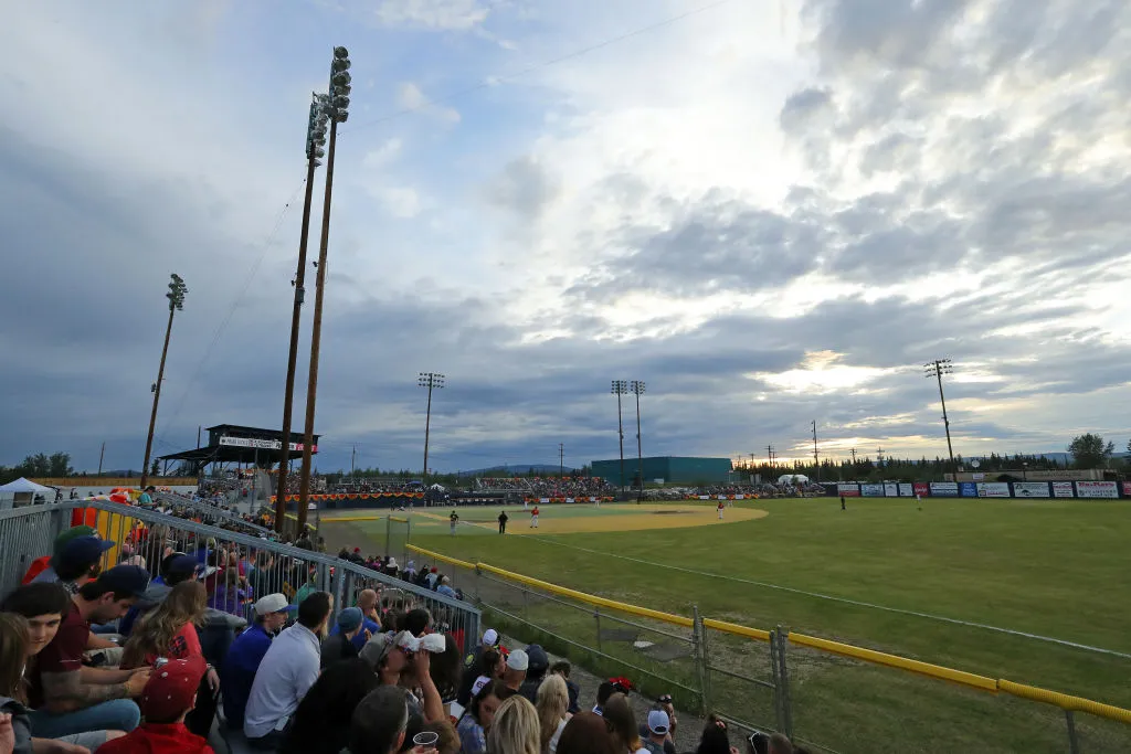
M 320 95 L 322 107 L 330 121 L 330 140 L 326 151 L 326 194 L 322 198 L 322 235 L 318 245 L 318 276 L 314 284 L 314 321 L 310 333 L 310 379 L 307 383 L 307 428 L 302 437 L 302 482 L 299 486 L 299 527 L 307 527 L 307 508 L 310 500 L 310 467 L 314 444 L 314 405 L 318 398 L 318 352 L 322 344 L 322 298 L 326 291 L 326 250 L 330 243 L 330 197 L 334 193 L 334 147 L 337 144 L 338 123 L 349 118 L 349 51 L 334 47 L 330 61 L 329 94 Z M 291 442 L 286 437 L 286 442 Z

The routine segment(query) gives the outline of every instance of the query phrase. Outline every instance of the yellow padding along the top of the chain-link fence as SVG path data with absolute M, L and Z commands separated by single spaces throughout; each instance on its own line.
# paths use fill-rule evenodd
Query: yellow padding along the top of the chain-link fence
M 528 587 L 536 587 L 543 589 L 554 595 L 560 595 L 562 597 L 569 597 L 578 601 L 585 603 L 587 605 L 595 605 L 599 607 L 607 607 L 610 609 L 620 610 L 621 613 L 628 613 L 630 615 L 637 615 L 642 617 L 653 618 L 655 621 L 661 621 L 663 623 L 670 623 L 672 625 L 683 626 L 690 629 L 694 625 L 694 621 L 682 615 L 675 615 L 672 613 L 663 613 L 661 610 L 653 610 L 647 607 L 639 607 L 637 605 L 629 605 L 627 603 L 619 603 L 614 599 L 608 599 L 606 597 L 597 597 L 595 595 L 588 595 L 576 589 L 567 589 L 566 587 L 559 587 L 556 584 L 550 583 L 549 581 L 542 581 L 541 579 L 534 579 L 521 573 L 515 573 L 512 571 L 507 571 L 504 569 L 497 567 L 494 565 L 489 565 L 486 563 L 468 563 L 467 561 L 459 561 L 441 553 L 435 553 L 430 549 L 424 549 L 423 547 L 417 547 L 415 545 L 406 545 L 406 547 L 414 553 L 418 553 L 426 557 L 441 561 L 443 563 L 450 563 L 451 565 L 458 565 L 460 567 L 484 571 L 486 573 L 493 573 L 495 575 L 510 579 L 511 581 L 517 581 L 518 583 L 526 584 Z M 761 629 L 751 629 L 749 626 L 740 625 L 737 623 L 727 623 L 725 621 L 716 621 L 715 618 L 703 618 L 702 625 L 706 629 L 713 629 L 715 631 L 722 631 L 735 636 L 744 636 L 746 639 L 752 639 L 756 641 L 769 641 L 770 632 L 763 631 Z M 1018 696 L 1020 699 L 1028 699 L 1034 702 L 1042 702 L 1044 704 L 1051 704 L 1053 707 L 1059 707 L 1065 711 L 1073 712 L 1087 712 L 1089 714 L 1095 714 L 1096 717 L 1106 718 L 1108 720 L 1115 720 L 1117 722 L 1124 722 L 1131 725 L 1131 710 L 1123 709 L 1121 707 L 1114 707 L 1112 704 L 1104 704 L 1103 702 L 1096 702 L 1090 699 L 1083 699 L 1081 696 L 1072 696 L 1070 694 L 1062 694 L 1060 692 L 1050 691 L 1047 688 L 1038 688 L 1037 686 L 1027 686 L 1025 684 L 1013 683 L 1012 681 L 1007 681 L 1004 678 L 991 678 L 988 676 L 982 676 L 974 673 L 966 673 L 965 670 L 956 670 L 955 668 L 943 667 L 941 665 L 932 665 L 930 662 L 922 662 L 920 660 L 908 659 L 906 657 L 899 657 L 898 655 L 888 655 L 886 652 L 878 652 L 872 649 L 864 649 L 863 647 L 854 647 L 852 644 L 845 644 L 838 641 L 829 641 L 828 639 L 820 639 L 818 636 L 810 636 L 802 633 L 788 634 L 788 639 L 794 644 L 801 647 L 809 647 L 811 649 L 817 649 L 823 652 L 830 652 L 832 655 L 839 655 L 840 657 L 849 657 L 853 659 L 862 660 L 864 662 L 871 662 L 872 665 L 882 665 L 889 668 L 897 668 L 899 670 L 908 670 L 922 676 L 927 676 L 930 678 L 938 678 L 939 681 L 948 681 L 953 684 L 958 684 L 966 688 L 974 688 L 976 691 L 998 694 L 1004 693 L 1011 696 Z

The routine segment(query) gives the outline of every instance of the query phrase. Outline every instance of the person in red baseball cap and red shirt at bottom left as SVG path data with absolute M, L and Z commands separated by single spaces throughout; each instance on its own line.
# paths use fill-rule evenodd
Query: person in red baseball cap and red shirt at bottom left
M 101 754 L 213 754 L 200 736 L 189 731 L 184 717 L 196 705 L 206 670 L 199 655 L 170 660 L 156 668 L 138 704 L 145 722 L 122 738 L 98 747 Z

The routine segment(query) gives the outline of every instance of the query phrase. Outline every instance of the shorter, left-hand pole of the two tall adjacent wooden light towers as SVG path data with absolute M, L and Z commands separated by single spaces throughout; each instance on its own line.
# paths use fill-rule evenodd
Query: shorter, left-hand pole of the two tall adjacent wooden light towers
M 279 457 L 279 474 L 275 479 L 275 530 L 283 532 L 286 517 L 286 478 L 291 467 L 291 411 L 294 405 L 294 373 L 299 364 L 299 326 L 302 321 L 302 304 L 307 298 L 307 243 L 310 236 L 310 206 L 314 198 L 314 168 L 321 165 L 319 158 L 326 153 L 326 121 L 329 113 L 321 95 L 313 95 L 310 103 L 310 120 L 307 123 L 307 197 L 302 203 L 302 233 L 299 236 L 299 269 L 294 280 L 294 305 L 291 312 L 291 350 L 286 362 L 286 388 L 283 391 L 283 452 Z M 199 441 L 197 445 L 199 447 Z

